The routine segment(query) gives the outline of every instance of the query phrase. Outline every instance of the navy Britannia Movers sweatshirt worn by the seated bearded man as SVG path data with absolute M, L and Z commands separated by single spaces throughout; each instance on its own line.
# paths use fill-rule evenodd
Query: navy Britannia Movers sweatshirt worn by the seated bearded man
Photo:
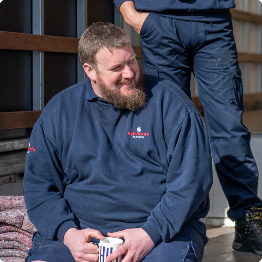
M 205 237 L 211 154 L 205 123 L 173 83 L 145 76 L 138 112 L 97 97 L 90 80 L 53 97 L 34 125 L 24 176 L 31 222 L 49 239 L 69 228 L 143 228 L 155 245 L 183 223 Z

